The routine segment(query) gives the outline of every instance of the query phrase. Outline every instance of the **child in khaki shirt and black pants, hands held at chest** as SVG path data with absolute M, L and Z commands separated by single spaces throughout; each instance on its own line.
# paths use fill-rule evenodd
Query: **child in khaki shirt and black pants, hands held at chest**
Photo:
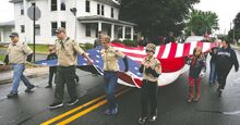
M 154 58 L 156 46 L 148 43 L 146 46 L 146 58 L 143 60 L 140 67 L 140 73 L 143 73 L 142 88 L 141 88 L 141 104 L 142 114 L 140 116 L 140 124 L 144 124 L 146 120 L 153 122 L 157 118 L 157 87 L 158 76 L 161 74 L 160 62 Z M 151 114 L 147 117 L 147 102 L 151 102 Z

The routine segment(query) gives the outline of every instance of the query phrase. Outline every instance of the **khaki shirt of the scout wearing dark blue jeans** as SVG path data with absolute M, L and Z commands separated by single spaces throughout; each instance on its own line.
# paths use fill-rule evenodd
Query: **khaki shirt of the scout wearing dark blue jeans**
M 112 71 L 112 72 L 119 71 L 118 58 L 123 59 L 125 57 L 122 52 L 116 50 L 111 46 L 107 50 L 103 49 L 100 51 L 100 54 L 104 60 L 104 71 Z

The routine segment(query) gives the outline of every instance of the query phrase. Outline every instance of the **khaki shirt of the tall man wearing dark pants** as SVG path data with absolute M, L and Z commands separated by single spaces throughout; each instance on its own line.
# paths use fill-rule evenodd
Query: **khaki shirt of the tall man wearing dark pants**
M 65 37 L 62 40 L 63 47 L 60 39 L 56 40 L 56 53 L 58 55 L 58 65 L 60 66 L 72 66 L 77 64 L 77 53 L 83 54 L 84 51 L 80 48 L 75 40 Z

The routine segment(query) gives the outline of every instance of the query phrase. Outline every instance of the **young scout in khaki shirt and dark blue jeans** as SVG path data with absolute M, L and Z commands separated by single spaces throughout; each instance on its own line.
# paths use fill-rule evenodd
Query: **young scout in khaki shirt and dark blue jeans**
M 104 113 L 106 115 L 112 115 L 118 113 L 118 105 L 115 99 L 119 71 L 118 58 L 121 58 L 124 62 L 124 72 L 128 72 L 129 64 L 127 57 L 110 46 L 110 38 L 108 36 L 101 36 L 100 42 L 104 47 L 100 54 L 104 60 L 105 92 L 108 100 L 108 109 Z

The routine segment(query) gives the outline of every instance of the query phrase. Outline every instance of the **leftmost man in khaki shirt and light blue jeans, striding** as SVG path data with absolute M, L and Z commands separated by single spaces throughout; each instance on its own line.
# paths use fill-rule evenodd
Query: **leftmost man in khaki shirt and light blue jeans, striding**
M 17 97 L 20 80 L 23 80 L 24 85 L 27 87 L 25 92 L 31 92 L 35 87 L 23 74 L 26 61 L 31 62 L 32 60 L 33 51 L 26 43 L 20 41 L 17 33 L 12 33 L 10 38 L 12 43 L 9 45 L 7 50 L 4 63 L 10 63 L 13 66 L 13 86 L 8 98 L 15 98 Z

